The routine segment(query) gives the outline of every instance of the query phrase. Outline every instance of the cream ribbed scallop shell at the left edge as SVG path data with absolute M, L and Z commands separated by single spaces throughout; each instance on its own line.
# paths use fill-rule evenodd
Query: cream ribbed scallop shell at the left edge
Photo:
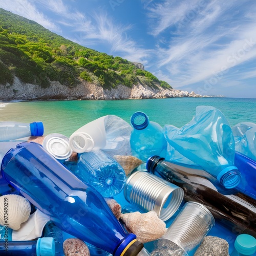
M 20 224 L 27 221 L 30 216 L 29 201 L 18 195 L 5 195 L 0 197 L 0 225 L 8 225 L 17 230 Z

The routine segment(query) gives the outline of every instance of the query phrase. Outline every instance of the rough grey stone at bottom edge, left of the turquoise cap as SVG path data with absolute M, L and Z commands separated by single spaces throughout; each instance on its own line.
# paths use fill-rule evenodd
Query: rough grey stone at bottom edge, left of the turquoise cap
M 228 242 L 225 239 L 207 236 L 194 256 L 229 256 L 228 247 Z

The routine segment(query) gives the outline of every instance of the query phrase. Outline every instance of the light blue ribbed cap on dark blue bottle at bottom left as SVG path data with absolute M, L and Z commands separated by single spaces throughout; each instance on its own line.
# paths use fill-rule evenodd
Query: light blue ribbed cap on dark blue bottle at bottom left
M 37 256 L 54 256 L 55 242 L 53 238 L 38 238 L 36 243 Z

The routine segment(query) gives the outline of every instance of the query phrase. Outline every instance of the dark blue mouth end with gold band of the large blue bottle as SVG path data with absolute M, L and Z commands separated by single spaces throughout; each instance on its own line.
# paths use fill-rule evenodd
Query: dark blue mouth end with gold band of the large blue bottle
M 135 234 L 130 233 L 123 239 L 113 256 L 136 256 L 144 247 L 143 243 L 136 239 Z

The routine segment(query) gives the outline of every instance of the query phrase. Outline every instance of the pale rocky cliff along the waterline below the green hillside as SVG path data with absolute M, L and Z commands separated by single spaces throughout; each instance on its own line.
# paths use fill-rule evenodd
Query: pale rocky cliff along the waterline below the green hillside
M 51 82 L 50 87 L 41 88 L 35 84 L 22 83 L 14 77 L 13 84 L 0 84 L 0 100 L 117 100 L 117 99 L 154 99 L 172 97 L 203 97 L 194 92 L 174 89 L 163 89 L 156 86 L 153 89 L 141 84 L 132 88 L 119 85 L 114 89 L 105 90 L 101 86 L 87 81 L 81 81 L 76 87 L 63 86 L 58 81 Z

